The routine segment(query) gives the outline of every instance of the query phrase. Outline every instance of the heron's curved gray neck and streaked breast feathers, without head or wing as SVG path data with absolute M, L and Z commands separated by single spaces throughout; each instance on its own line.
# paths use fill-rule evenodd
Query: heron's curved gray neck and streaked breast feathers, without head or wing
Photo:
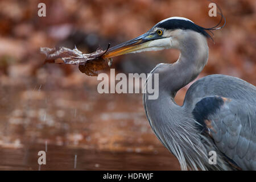
M 190 31 L 178 42 L 180 57 L 176 63 L 160 64 L 152 72 L 159 73 L 159 98 L 148 100 L 147 93 L 143 94 L 144 109 L 152 130 L 179 160 L 181 169 L 188 169 L 187 165 L 192 169 L 209 169 L 205 162 L 208 163 L 207 151 L 213 146 L 206 148 L 201 143 L 191 112 L 174 101 L 176 92 L 194 80 L 207 63 L 207 40 Z

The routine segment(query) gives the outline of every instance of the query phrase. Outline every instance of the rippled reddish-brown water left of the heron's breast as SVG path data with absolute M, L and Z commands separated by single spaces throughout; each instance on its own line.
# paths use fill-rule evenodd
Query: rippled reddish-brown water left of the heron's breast
M 0 88 L 0 170 L 180 169 L 152 133 L 141 94 L 98 94 L 93 82 L 24 83 Z

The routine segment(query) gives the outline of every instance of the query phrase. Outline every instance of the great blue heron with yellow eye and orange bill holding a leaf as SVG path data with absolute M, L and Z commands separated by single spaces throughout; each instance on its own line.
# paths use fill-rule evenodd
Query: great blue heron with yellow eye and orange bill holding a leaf
M 209 75 L 188 89 L 184 103 L 177 91 L 195 80 L 207 64 L 209 34 L 191 20 L 164 19 L 145 34 L 110 48 L 105 57 L 126 53 L 180 50 L 174 64 L 158 64 L 159 97 L 143 94 L 147 119 L 156 137 L 179 160 L 181 169 L 256 169 L 256 88 L 240 78 Z M 216 28 L 215 28 L 216 29 Z M 217 164 L 208 163 L 216 151 Z

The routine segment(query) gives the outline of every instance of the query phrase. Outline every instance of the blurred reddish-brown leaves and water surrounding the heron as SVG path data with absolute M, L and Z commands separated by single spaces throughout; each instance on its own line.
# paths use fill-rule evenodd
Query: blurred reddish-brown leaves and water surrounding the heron
M 46 17 L 38 16 L 39 2 L 46 3 Z M 227 23 L 214 31 L 215 44 L 209 40 L 209 61 L 199 77 L 221 73 L 255 85 L 256 1 L 216 3 Z M 47 142 L 41 170 L 179 170 L 152 133 L 142 94 L 98 94 L 97 77 L 75 65 L 43 64 L 39 48 L 105 49 L 170 16 L 213 27 L 219 18 L 208 16 L 208 5 L 206 0 L 1 1 L 0 169 L 38 170 L 38 151 L 46 151 Z M 178 56 L 176 50 L 125 55 L 115 58 L 112 68 L 149 72 Z M 178 104 L 187 89 L 177 94 Z

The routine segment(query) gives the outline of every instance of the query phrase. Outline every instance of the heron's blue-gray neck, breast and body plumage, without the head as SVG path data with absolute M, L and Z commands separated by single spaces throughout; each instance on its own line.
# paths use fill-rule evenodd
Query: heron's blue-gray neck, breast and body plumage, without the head
M 143 96 L 152 129 L 177 157 L 181 169 L 256 170 L 254 85 L 236 77 L 210 75 L 191 85 L 183 106 L 175 103 L 176 92 L 199 75 L 208 59 L 206 39 L 193 31 L 187 31 L 185 36 L 179 60 L 175 64 L 159 64 L 152 71 L 159 73 L 159 98 L 147 100 L 147 93 Z M 196 121 L 193 110 L 207 97 L 220 97 L 224 104 L 204 119 L 212 125 L 204 133 L 198 129 L 202 123 Z M 203 115 L 200 111 L 199 114 Z M 209 151 L 217 152 L 216 165 L 208 163 Z

